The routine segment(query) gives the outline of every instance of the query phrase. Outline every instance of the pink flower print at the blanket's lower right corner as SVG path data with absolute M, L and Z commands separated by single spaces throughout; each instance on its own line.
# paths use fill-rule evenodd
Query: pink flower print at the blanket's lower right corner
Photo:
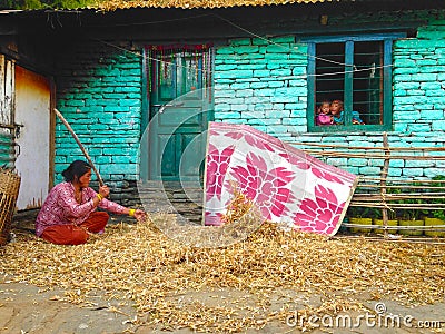
M 294 217 L 295 225 L 301 230 L 332 234 L 340 218 L 345 203 L 338 204 L 332 189 L 315 187 L 315 200 L 305 198 L 300 210 Z

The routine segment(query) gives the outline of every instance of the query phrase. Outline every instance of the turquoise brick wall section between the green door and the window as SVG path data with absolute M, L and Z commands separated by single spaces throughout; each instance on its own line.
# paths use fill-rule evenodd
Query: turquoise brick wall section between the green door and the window
M 233 40 L 215 58 L 215 120 L 290 140 L 306 131 L 307 47 L 294 37 Z

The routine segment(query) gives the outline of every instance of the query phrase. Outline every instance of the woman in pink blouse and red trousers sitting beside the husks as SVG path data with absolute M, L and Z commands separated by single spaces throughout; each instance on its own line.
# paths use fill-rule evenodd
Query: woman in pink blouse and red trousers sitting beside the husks
M 89 233 L 101 233 L 109 215 L 97 212 L 97 207 L 115 214 L 130 215 L 141 219 L 146 213 L 113 203 L 108 197 L 107 186 L 96 193 L 89 187 L 91 166 L 76 160 L 63 170 L 65 181 L 48 194 L 36 220 L 36 235 L 58 245 L 80 245 L 88 240 Z

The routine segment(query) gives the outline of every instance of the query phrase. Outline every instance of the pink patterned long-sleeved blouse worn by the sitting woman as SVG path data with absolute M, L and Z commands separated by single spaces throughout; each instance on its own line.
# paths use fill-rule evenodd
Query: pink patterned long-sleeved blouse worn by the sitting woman
M 96 210 L 92 198 L 97 193 L 91 188 L 82 189 L 82 200 L 78 204 L 75 198 L 75 187 L 71 183 L 61 183 L 48 194 L 36 219 L 36 235 L 41 236 L 43 229 L 53 225 L 79 225 Z M 125 207 L 103 198 L 99 207 L 115 214 L 122 214 Z

